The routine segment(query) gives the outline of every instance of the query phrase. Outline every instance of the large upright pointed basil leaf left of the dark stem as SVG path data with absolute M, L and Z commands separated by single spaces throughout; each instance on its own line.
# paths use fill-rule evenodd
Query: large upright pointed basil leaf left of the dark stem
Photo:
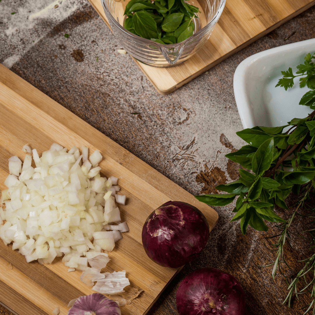
M 270 168 L 273 157 L 273 138 L 266 140 L 255 152 L 252 161 L 252 170 L 257 175 L 262 175 Z

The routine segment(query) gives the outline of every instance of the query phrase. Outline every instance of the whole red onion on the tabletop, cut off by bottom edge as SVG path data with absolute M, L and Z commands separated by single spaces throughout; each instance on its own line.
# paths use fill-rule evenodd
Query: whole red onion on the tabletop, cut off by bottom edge
M 179 315 L 244 315 L 245 297 L 236 278 L 219 269 L 190 273 L 176 292 Z

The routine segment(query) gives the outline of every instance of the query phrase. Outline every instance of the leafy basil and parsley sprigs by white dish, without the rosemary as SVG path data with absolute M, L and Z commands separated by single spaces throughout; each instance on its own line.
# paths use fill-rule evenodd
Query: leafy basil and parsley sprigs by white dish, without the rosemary
M 300 86 L 307 85 L 308 91 L 300 104 L 315 106 L 315 54 L 307 54 L 304 65 L 297 66 L 296 76 L 292 69 L 277 84 L 285 89 L 293 86 L 293 78 L 300 78 Z M 292 191 L 299 195 L 301 186 L 310 185 L 315 189 L 315 110 L 305 118 L 293 118 L 281 127 L 254 127 L 238 131 L 236 134 L 248 145 L 240 150 L 226 154 L 226 157 L 239 163 L 239 180 L 215 188 L 228 194 L 207 194 L 195 196 L 198 200 L 212 206 L 225 206 L 237 197 L 236 212 L 231 221 L 240 219 L 242 233 L 248 224 L 258 231 L 267 231 L 264 220 L 286 222 L 274 211 L 275 204 L 288 209 L 285 199 Z M 286 132 L 285 127 L 291 126 Z M 287 158 L 292 156 L 291 160 Z M 253 173 L 245 170 L 252 170 Z M 293 169 L 288 171 L 289 169 Z M 304 187 L 304 186 L 303 186 Z M 301 190 L 302 191 L 302 190 Z

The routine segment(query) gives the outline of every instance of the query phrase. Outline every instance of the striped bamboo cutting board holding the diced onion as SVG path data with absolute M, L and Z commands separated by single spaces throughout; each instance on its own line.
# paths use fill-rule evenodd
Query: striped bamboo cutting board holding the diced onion
M 180 200 L 198 207 L 213 229 L 218 214 L 0 64 L 0 190 L 6 189 L 9 157 L 17 155 L 23 160 L 26 143 L 41 155 L 53 142 L 68 149 L 88 146 L 89 153 L 98 149 L 104 157 L 101 174 L 119 178 L 121 194 L 127 196 L 126 205 L 119 208 L 129 232 L 123 233 L 110 253 L 106 271 L 126 270 L 132 287 L 144 290 L 121 307 L 122 314 L 146 314 L 180 270 L 161 267 L 146 256 L 141 231 L 148 215 L 169 200 Z M 20 315 L 52 314 L 59 306 L 60 315 L 66 315 L 70 300 L 94 291 L 80 281 L 81 272 L 68 273 L 60 258 L 50 265 L 26 263 L 12 245 L 5 246 L 0 240 L 0 304 Z

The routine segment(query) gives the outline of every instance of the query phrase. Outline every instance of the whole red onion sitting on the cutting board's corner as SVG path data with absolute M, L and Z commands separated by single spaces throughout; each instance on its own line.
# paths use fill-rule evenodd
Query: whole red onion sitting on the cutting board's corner
M 142 244 L 157 264 L 178 268 L 196 257 L 206 246 L 209 225 L 200 210 L 181 201 L 162 204 L 146 219 Z

